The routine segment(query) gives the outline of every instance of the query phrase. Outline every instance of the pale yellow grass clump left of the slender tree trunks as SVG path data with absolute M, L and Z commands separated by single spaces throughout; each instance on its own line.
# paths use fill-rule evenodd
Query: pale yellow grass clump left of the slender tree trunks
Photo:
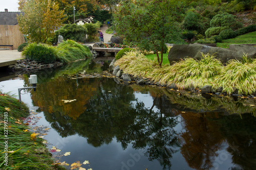
M 118 59 L 115 65 L 119 65 L 125 73 L 145 77 L 158 65 L 157 61 L 148 60 L 143 54 L 137 51 L 126 53 L 122 58 Z

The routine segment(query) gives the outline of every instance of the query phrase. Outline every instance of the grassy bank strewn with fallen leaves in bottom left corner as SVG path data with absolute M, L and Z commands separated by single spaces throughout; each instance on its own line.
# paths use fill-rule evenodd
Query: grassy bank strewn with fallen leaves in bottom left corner
M 0 169 L 65 169 L 51 165 L 53 159 L 43 140 L 23 123 L 29 115 L 25 104 L 0 92 L 0 113 Z

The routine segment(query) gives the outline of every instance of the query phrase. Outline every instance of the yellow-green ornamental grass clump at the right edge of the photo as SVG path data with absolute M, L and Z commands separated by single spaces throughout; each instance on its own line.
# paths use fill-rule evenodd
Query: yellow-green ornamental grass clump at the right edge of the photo
M 241 61 L 230 60 L 224 68 L 223 74 L 216 77 L 213 88 L 223 87 L 227 94 L 234 92 L 233 87 L 239 93 L 251 94 L 256 88 L 256 60 L 243 56 Z

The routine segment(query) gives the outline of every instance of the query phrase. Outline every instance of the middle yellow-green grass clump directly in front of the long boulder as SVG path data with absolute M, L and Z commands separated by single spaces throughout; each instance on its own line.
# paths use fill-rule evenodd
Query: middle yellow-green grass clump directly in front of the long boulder
M 222 63 L 213 55 L 203 54 L 201 60 L 186 58 L 170 66 L 167 84 L 175 83 L 179 89 L 202 88 L 212 83 L 216 75 L 222 74 Z M 169 80 L 168 80 L 169 79 Z

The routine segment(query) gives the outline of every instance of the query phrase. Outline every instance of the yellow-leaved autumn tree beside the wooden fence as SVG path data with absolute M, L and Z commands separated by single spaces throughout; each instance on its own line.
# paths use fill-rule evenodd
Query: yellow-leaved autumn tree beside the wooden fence
M 17 16 L 19 29 L 31 42 L 46 43 L 66 20 L 64 11 L 52 0 L 20 0 L 19 5 L 24 12 Z

